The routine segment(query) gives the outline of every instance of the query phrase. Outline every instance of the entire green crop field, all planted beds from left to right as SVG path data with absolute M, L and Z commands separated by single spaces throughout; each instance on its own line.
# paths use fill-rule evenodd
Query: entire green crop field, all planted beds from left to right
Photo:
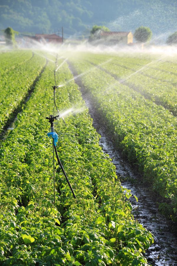
M 148 265 L 144 253 L 153 236 L 133 218 L 131 191 L 121 186 L 99 147 L 74 80 L 94 102 L 117 147 L 160 195 L 160 211 L 175 221 L 175 67 L 175 61 L 149 57 L 0 54 L 2 135 L 18 113 L 14 129 L 0 142 L 1 265 Z M 56 148 L 77 200 L 54 158 L 54 202 L 53 142 L 46 120 L 58 115 L 53 85 L 59 86 L 55 102 L 61 114 L 54 121 Z

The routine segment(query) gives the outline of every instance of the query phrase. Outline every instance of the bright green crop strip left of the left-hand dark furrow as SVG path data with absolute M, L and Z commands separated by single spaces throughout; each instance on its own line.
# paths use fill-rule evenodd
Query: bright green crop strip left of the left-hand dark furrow
M 8 69 L 0 77 L 0 133 L 9 118 L 14 115 L 13 113 L 33 89 L 35 80 L 46 64 L 45 58 L 37 54 L 32 56 L 32 51 L 22 51 L 21 56 L 19 51 L 17 51 L 18 56 L 14 56 L 15 52 L 9 54 L 13 58 L 13 67 L 12 62 L 8 61 L 9 55 L 5 59 L 4 53 L 0 54 L 0 59 L 4 57 L 2 61 L 0 60 L 0 71 L 4 66 L 4 69 Z

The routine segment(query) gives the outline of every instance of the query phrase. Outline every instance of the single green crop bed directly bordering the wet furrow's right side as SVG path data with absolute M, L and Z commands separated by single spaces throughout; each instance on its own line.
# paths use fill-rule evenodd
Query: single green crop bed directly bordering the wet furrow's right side
M 78 74 L 85 72 L 80 78 L 86 97 L 95 103 L 107 133 L 162 197 L 160 210 L 176 220 L 176 117 L 79 56 L 70 62 Z

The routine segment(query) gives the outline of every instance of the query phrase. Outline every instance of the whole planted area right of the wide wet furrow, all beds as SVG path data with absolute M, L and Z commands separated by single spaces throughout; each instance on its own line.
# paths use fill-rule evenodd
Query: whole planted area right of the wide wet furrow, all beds
M 162 197 L 159 210 L 176 220 L 176 62 L 171 61 L 165 80 L 169 62 L 163 60 L 159 67 L 154 58 L 130 57 L 129 64 L 127 56 L 80 54 L 70 62 L 75 74 L 81 74 L 84 91 L 94 101 L 107 134 Z

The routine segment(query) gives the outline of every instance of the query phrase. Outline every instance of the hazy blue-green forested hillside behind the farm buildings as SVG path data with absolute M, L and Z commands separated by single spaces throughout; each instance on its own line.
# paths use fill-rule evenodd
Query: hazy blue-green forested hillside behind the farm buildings
M 176 31 L 176 14 L 173 0 L 1 0 L 0 29 L 57 33 L 63 26 L 68 38 L 74 34 L 86 37 L 95 24 L 132 32 L 143 25 L 158 35 Z

